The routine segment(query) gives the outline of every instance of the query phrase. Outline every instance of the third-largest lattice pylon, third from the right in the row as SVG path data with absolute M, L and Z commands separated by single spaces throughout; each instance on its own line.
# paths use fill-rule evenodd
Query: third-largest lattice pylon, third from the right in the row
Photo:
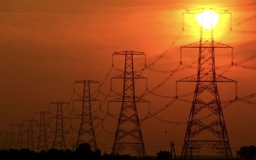
M 76 147 L 80 143 L 89 143 L 92 149 L 97 149 L 96 137 L 93 128 L 93 120 L 100 119 L 99 117 L 92 115 L 92 102 L 99 101 L 98 99 L 91 97 L 91 84 L 99 84 L 95 80 L 78 80 L 75 84 L 83 84 L 83 96 L 75 101 L 82 101 L 82 115 L 81 124 L 78 131 Z

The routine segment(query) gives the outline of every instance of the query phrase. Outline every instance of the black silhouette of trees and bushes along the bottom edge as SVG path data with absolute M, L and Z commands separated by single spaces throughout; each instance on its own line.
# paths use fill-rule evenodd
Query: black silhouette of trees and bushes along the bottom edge
M 255 159 L 256 147 L 251 145 L 249 147 L 241 147 L 237 150 L 236 159 Z M 92 150 L 88 143 L 81 143 L 76 150 L 70 149 L 49 149 L 35 152 L 29 149 L 9 149 L 0 150 L 1 160 L 170 160 L 171 154 L 169 151 L 160 150 L 156 156 L 146 157 L 133 157 L 130 155 L 121 154 L 102 154 L 99 149 Z M 177 158 L 179 159 L 179 158 Z M 206 156 L 206 157 L 192 157 L 192 159 L 219 159 L 218 157 Z

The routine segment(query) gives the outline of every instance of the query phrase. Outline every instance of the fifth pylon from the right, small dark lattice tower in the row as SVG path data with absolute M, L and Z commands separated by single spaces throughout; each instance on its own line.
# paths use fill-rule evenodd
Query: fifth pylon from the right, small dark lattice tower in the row
M 39 134 L 38 134 L 38 143 L 36 150 L 47 150 L 47 136 L 46 136 L 46 114 L 49 112 L 36 112 L 40 114 L 40 124 L 39 124 Z

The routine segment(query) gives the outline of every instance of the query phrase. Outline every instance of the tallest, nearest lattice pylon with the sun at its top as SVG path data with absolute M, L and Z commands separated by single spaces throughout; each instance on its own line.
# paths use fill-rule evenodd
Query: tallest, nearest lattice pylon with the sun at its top
M 191 11 L 191 13 L 195 12 L 195 10 Z M 217 82 L 236 81 L 216 74 L 214 56 L 215 48 L 232 47 L 214 43 L 213 29 L 205 30 L 201 27 L 200 41 L 181 47 L 180 50 L 184 48 L 198 48 L 199 53 L 197 74 L 177 81 L 196 82 L 181 157 L 184 159 L 193 157 L 202 147 L 209 147 L 221 157 L 232 159 Z M 202 119 L 205 116 L 206 118 Z

